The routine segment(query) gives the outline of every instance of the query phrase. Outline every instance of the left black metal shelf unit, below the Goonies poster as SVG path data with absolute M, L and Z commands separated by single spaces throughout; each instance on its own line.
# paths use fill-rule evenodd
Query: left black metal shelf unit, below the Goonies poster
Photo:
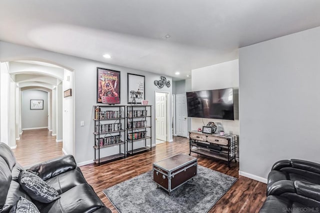
M 93 105 L 94 162 L 100 165 L 125 157 L 125 106 Z M 100 156 L 100 149 L 118 145 L 118 153 Z M 122 147 L 122 151 L 121 151 Z

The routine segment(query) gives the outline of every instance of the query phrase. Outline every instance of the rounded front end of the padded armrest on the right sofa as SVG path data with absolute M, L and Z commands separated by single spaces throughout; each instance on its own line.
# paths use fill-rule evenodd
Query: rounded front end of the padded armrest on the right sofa
M 282 193 L 296 193 L 295 186 L 291 180 L 279 180 L 267 187 L 267 196 L 280 195 Z

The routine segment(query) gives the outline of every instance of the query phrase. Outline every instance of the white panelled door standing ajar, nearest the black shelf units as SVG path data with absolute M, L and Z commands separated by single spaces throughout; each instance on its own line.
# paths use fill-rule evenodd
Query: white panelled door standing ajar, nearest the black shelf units
M 166 141 L 166 93 L 155 93 L 155 136 Z

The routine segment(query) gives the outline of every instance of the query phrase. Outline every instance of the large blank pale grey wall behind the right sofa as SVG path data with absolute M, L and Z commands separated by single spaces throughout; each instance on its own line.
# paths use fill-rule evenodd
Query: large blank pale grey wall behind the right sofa
M 239 173 L 265 181 L 272 164 L 319 162 L 320 27 L 240 48 Z

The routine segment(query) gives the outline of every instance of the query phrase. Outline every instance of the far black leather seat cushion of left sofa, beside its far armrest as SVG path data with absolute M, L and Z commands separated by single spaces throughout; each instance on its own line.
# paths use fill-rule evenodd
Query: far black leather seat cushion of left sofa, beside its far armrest
M 45 180 L 45 182 L 57 190 L 59 194 L 76 185 L 86 183 L 79 167 L 51 177 L 50 179 Z

